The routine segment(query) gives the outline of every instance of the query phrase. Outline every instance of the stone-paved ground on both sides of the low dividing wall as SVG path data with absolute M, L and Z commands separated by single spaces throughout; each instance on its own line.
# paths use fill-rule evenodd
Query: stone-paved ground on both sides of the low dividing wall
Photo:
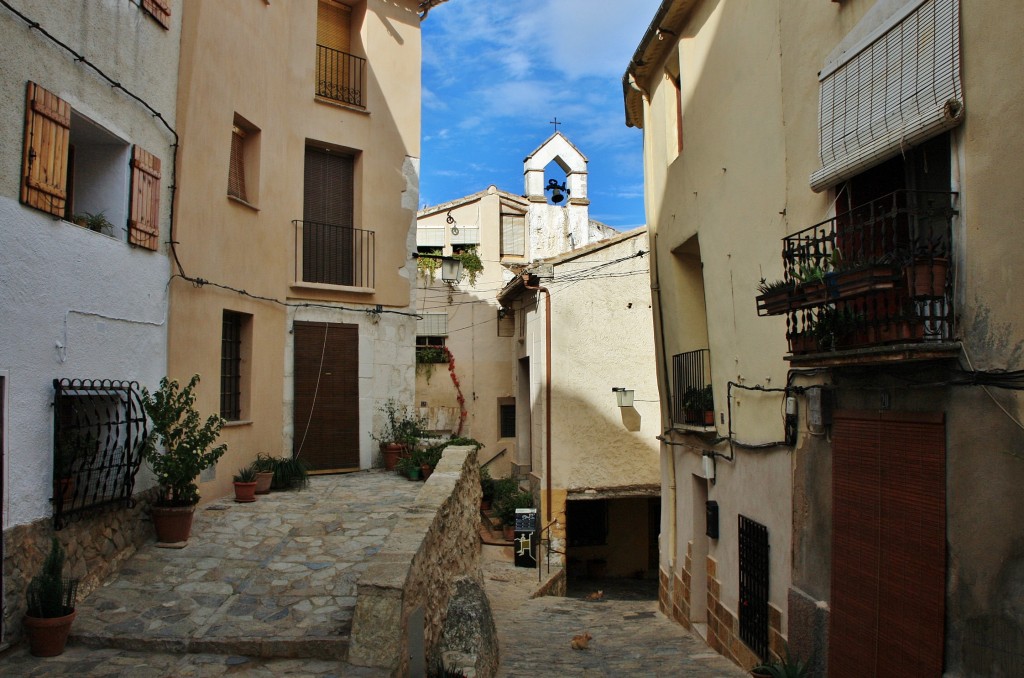
M 358 573 L 422 486 L 371 471 L 314 477 L 309 491 L 253 504 L 217 502 L 197 513 L 185 549 L 145 545 L 80 604 L 62 655 L 18 646 L 0 655 L 0 676 L 385 676 L 340 658 Z M 514 567 L 511 549 L 485 546 L 481 561 L 499 676 L 745 675 L 652 600 L 530 599 L 537 570 Z M 571 649 L 585 631 L 588 648 Z

